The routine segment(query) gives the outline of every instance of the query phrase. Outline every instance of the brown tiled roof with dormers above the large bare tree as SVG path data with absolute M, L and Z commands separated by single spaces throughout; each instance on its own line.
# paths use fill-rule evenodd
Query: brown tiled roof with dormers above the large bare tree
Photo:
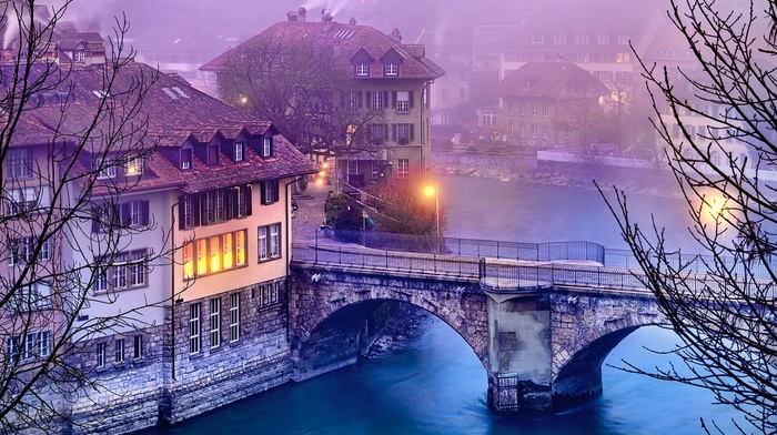
M 424 54 L 421 44 L 402 44 L 390 36 L 370 27 L 350 23 L 314 21 L 282 21 L 278 22 L 261 33 L 248 39 L 240 45 L 226 51 L 220 57 L 202 65 L 203 71 L 221 71 L 231 57 L 233 50 L 263 47 L 268 40 L 280 42 L 311 41 L 314 45 L 327 48 L 339 53 L 343 63 L 350 67 L 352 57 L 361 49 L 366 51 L 375 62 L 372 64 L 371 78 L 382 78 L 380 63 L 381 57 L 390 49 L 396 50 L 402 58 L 400 79 L 434 80 L 445 72 Z M 392 77 L 391 79 L 396 79 Z

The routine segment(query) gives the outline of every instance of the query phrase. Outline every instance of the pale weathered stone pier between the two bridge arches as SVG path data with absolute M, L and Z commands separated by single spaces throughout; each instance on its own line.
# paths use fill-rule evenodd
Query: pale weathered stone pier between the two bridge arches
M 488 405 L 500 413 L 553 407 L 551 302 L 541 293 L 488 292 Z

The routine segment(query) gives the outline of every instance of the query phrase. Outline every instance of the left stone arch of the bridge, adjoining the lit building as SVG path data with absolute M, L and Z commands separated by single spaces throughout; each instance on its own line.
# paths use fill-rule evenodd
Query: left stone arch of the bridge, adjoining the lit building
M 487 368 L 486 296 L 477 282 L 413 273 L 360 274 L 332 266 L 292 267 L 290 342 L 293 378 L 301 381 L 355 362 L 371 344 L 369 318 L 389 301 L 438 317 L 472 347 Z

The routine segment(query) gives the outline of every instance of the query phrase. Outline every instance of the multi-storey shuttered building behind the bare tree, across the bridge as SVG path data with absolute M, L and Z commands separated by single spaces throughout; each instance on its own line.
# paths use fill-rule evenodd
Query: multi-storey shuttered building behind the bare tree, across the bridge
M 371 152 L 339 156 L 334 178 L 363 184 L 390 174 L 406 176 L 427 170 L 430 88 L 444 72 L 426 58 L 423 44 L 402 43 L 398 30 L 389 36 L 359 26 L 354 19 L 349 23 L 336 22 L 327 12 L 322 12 L 320 21 L 309 21 L 306 10 L 300 8 L 287 14 L 287 21 L 271 26 L 201 69 L 214 72 L 218 81 L 225 81 L 234 50 L 261 47 L 268 39 L 280 43 L 305 40 L 317 50 L 336 53 L 351 79 L 350 91 L 334 97 L 333 103 L 343 104 L 347 111 L 374 114 L 362 129 L 380 145 Z

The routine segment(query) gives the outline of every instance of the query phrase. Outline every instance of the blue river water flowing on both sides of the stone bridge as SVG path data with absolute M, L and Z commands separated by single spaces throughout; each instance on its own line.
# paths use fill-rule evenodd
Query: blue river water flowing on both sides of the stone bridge
M 584 240 L 625 247 L 599 193 L 586 189 L 442 176 L 447 235 L 549 242 Z M 690 239 L 682 204 L 635 196 L 634 213 L 656 213 L 673 243 Z M 507 418 L 486 404 L 485 370 L 467 344 L 434 317 L 390 352 L 300 384 L 289 384 L 149 434 L 700 434 L 699 418 L 733 432 L 733 409 L 703 390 L 609 367 L 622 360 L 645 368 L 667 360 L 672 333 L 645 327 L 626 337 L 603 367 L 604 394 L 566 412 Z

